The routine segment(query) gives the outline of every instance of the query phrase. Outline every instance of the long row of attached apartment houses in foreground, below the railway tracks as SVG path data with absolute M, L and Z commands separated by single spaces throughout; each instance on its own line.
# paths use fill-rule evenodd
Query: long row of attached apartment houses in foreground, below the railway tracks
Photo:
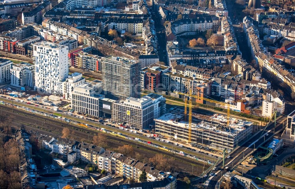
M 131 159 L 122 154 L 105 150 L 99 146 L 86 142 L 78 142 L 64 138 L 39 137 L 42 146 L 50 150 L 50 153 L 63 155 L 68 162 L 82 162 L 97 165 L 100 170 L 123 175 L 124 178 L 139 182 L 139 176 L 142 172 L 147 173 L 147 181 L 171 179 L 167 183 L 167 189 L 176 189 L 176 178 L 173 178 L 169 173 L 159 171 L 153 167 L 143 164 L 138 160 Z

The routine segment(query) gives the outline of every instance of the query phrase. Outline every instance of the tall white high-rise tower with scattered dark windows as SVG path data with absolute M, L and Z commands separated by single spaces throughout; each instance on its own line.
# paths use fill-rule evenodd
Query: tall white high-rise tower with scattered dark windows
M 68 78 L 68 47 L 50 42 L 33 45 L 35 56 L 35 89 L 47 94 L 63 95 Z

